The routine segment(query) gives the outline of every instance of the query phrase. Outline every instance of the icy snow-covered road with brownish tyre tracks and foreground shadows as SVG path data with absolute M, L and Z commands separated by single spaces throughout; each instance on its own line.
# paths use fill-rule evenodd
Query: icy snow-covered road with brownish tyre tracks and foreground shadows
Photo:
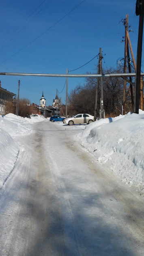
M 84 125 L 32 128 L 0 191 L 0 256 L 143 256 L 144 198 L 78 145 Z

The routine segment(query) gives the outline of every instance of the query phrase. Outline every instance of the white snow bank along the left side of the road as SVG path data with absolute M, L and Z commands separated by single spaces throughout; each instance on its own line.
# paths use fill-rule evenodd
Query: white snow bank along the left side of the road
M 15 138 L 32 132 L 30 124 L 43 120 L 43 116 L 23 118 L 14 114 L 0 115 L 0 188 L 15 168 L 21 146 Z

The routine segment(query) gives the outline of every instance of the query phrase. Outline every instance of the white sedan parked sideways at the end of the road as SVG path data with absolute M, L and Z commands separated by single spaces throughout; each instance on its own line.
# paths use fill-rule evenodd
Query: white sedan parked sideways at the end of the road
M 78 114 L 72 116 L 70 118 L 65 118 L 63 123 L 66 125 L 73 125 L 73 124 L 90 124 L 94 121 L 94 116 L 89 114 Z

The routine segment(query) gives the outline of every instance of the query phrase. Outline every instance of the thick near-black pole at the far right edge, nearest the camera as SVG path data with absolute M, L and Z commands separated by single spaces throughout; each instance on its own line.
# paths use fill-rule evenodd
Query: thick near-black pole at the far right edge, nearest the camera
M 135 14 L 140 15 L 139 30 L 138 30 L 138 47 L 137 47 L 137 62 L 135 76 L 135 97 L 134 97 L 134 113 L 139 114 L 140 105 L 140 72 L 142 62 L 142 37 L 144 26 L 144 0 L 137 0 Z

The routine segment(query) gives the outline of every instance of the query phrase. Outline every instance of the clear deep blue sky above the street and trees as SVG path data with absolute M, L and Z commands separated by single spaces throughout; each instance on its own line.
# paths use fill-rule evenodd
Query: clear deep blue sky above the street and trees
M 124 57 L 125 27 L 118 22 L 129 14 L 133 52 L 136 58 L 139 17 L 135 15 L 136 0 L 2 0 L 0 5 L 0 72 L 66 73 L 91 60 L 102 48 L 105 65 L 116 67 Z M 69 13 L 75 6 L 76 9 Z M 67 15 L 64 17 L 64 15 Z M 30 16 L 30 17 L 29 17 Z M 64 17 L 60 22 L 58 22 Z M 58 22 L 55 26 L 50 28 Z M 119 27 L 119 34 L 118 34 Z M 50 29 L 49 29 L 50 28 Z M 49 29 L 49 30 L 48 30 Z M 47 30 L 47 32 L 45 32 Z M 45 32 L 41 37 L 40 34 Z M 39 37 L 38 39 L 36 39 Z M 36 39 L 34 42 L 30 43 Z M 29 44 L 25 47 L 27 44 Z M 22 49 L 25 47 L 24 49 Z M 17 51 L 20 52 L 15 54 Z M 12 56 L 15 54 L 14 56 Z M 11 57 L 12 56 L 12 57 Z M 9 58 L 11 57 L 11 58 Z M 6 60 L 7 59 L 7 60 Z M 74 71 L 94 71 L 97 58 Z M 144 61 L 144 57 L 142 57 Z M 52 105 L 56 89 L 60 92 L 65 78 L 1 76 L 1 86 L 39 105 L 42 96 Z M 69 78 L 68 92 L 83 78 Z M 65 88 L 59 97 L 65 103 Z

